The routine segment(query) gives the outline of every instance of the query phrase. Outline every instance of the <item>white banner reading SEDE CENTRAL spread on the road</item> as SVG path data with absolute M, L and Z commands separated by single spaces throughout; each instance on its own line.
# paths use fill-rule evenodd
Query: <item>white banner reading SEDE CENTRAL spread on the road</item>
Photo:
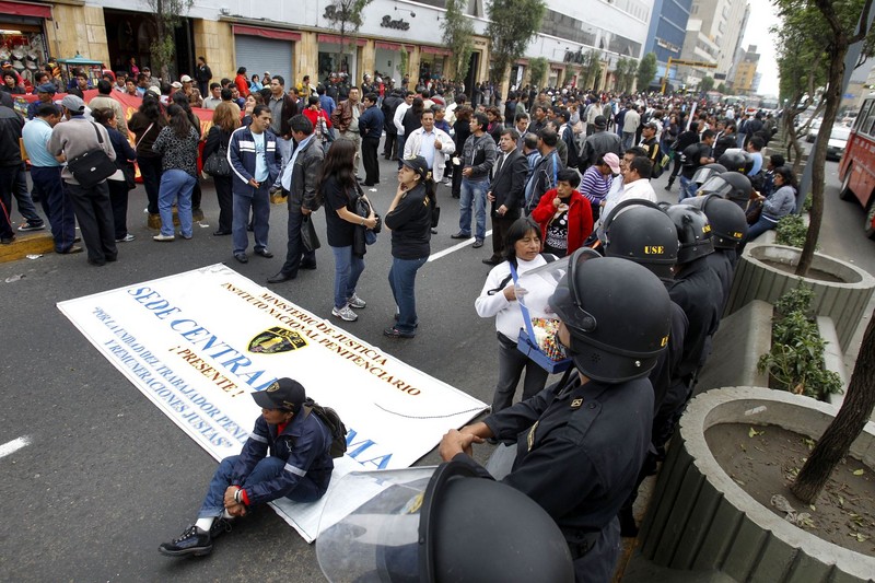
M 348 451 L 334 479 L 408 467 L 487 408 L 221 264 L 58 307 L 215 459 L 238 454 L 254 427 L 260 410 L 248 394 L 282 376 L 346 423 Z M 191 476 L 205 491 L 209 478 Z M 322 508 L 275 503 L 307 541 Z

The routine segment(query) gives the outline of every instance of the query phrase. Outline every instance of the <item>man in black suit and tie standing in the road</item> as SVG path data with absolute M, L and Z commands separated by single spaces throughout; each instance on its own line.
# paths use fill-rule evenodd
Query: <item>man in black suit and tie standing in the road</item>
M 499 154 L 495 172 L 489 184 L 487 199 L 492 203 L 492 257 L 483 259 L 487 265 L 498 265 L 504 260 L 504 240 L 511 224 L 520 218 L 520 209 L 525 202 L 526 174 L 528 161 L 516 148 L 520 135 L 513 128 L 505 128 L 499 140 Z

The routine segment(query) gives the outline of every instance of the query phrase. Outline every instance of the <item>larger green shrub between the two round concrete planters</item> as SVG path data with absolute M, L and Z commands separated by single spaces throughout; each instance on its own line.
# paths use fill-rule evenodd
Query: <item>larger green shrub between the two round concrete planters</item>
M 809 314 L 814 291 L 800 285 L 774 304 L 772 348 L 759 358 L 757 368 L 768 372 L 777 388 L 817 399 L 841 393 L 841 378 L 824 363 L 826 340 L 820 338 Z

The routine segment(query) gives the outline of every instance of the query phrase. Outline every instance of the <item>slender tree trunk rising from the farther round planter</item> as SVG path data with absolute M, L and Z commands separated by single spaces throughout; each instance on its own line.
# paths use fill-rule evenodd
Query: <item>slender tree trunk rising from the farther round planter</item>
M 796 266 L 796 275 L 805 277 L 808 268 L 814 260 L 814 252 L 817 247 L 817 237 L 820 234 L 820 223 L 824 218 L 824 166 L 827 162 L 827 144 L 829 133 L 824 135 L 825 129 L 830 129 L 836 123 L 836 117 L 841 105 L 841 91 L 844 81 L 844 56 L 848 54 L 848 37 L 839 34 L 833 40 L 833 50 L 829 50 L 830 62 L 827 75 L 826 108 L 824 110 L 824 121 L 820 124 L 818 139 L 815 143 L 814 152 L 808 155 L 808 164 L 812 165 L 812 210 L 809 213 L 808 233 L 805 236 L 805 245 L 802 247 L 800 264 Z M 802 193 L 803 199 L 805 193 Z

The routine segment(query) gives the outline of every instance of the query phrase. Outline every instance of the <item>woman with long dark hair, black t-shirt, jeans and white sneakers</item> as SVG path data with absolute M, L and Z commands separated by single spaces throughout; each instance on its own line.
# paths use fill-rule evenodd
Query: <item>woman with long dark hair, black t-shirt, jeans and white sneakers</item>
M 366 304 L 355 293 L 355 285 L 364 271 L 364 245 L 355 245 L 358 234 L 364 240 L 364 229 L 376 226 L 373 208 L 368 218 L 358 213 L 359 198 L 368 198 L 355 184 L 355 142 L 338 140 L 325 154 L 317 189 L 325 198 L 325 222 L 328 246 L 335 255 L 335 305 L 331 315 L 345 322 L 355 322 L 359 316 L 351 308 Z M 369 201 L 370 207 L 370 201 Z M 361 233 L 357 233 L 357 231 Z

